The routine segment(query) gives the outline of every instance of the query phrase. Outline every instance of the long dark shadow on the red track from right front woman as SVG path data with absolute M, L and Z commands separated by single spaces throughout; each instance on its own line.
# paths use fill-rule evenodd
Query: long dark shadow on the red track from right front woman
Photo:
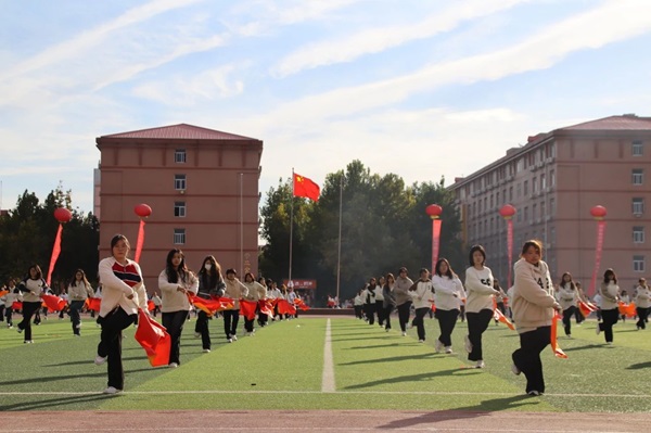
M 526 403 L 525 403 L 526 402 Z M 439 410 L 430 413 L 419 415 L 413 418 L 392 421 L 384 425 L 379 425 L 378 429 L 394 430 L 405 429 L 420 424 L 431 424 L 441 421 L 464 420 L 470 418 L 485 417 L 493 411 L 513 409 L 518 406 L 536 402 L 528 395 L 516 395 L 506 398 L 492 398 L 480 403 L 476 406 L 460 407 L 455 410 Z

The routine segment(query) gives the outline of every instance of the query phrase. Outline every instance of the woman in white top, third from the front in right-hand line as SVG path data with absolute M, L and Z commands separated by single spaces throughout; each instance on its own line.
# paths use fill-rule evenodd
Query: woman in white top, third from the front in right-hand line
M 450 264 L 445 258 L 439 258 L 436 262 L 436 268 L 432 278 L 434 286 L 434 303 L 436 313 L 434 314 L 438 320 L 441 335 L 434 343 L 436 353 L 441 353 L 445 347 L 446 354 L 452 353 L 452 331 L 459 316 L 459 300 L 465 297 L 463 284 L 459 277 L 452 272 Z

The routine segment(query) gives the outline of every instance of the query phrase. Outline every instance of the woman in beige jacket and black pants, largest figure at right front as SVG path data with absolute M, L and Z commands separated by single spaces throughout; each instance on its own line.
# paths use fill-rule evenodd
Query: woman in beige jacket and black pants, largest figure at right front
M 554 310 L 561 311 L 553 297 L 549 268 L 542 258 L 542 245 L 529 240 L 522 246 L 520 260 L 513 266 L 513 319 L 520 334 L 520 348 L 513 352 L 511 371 L 526 377 L 526 393 L 545 393 L 540 353 L 551 343 L 551 321 Z

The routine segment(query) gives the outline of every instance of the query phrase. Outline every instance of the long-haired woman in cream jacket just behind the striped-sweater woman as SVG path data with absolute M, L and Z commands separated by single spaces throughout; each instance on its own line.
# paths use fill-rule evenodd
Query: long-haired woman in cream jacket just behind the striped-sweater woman
M 158 289 L 163 294 L 163 326 L 170 338 L 168 366 L 177 368 L 181 364 L 181 333 L 191 307 L 188 295 L 195 295 L 199 291 L 199 280 L 188 269 L 181 250 L 174 249 L 167 253 L 165 269 L 158 276 Z

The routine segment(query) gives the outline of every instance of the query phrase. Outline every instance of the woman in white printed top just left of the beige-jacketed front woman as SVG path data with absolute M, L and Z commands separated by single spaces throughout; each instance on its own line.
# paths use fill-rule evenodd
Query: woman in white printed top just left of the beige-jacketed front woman
M 484 368 L 482 334 L 493 318 L 493 304 L 499 290 L 493 289 L 493 272 L 484 266 L 486 252 L 482 245 L 474 245 L 469 253 L 470 267 L 465 269 L 465 317 L 468 318 L 468 335 L 464 339 L 468 359 L 475 361 L 475 368 Z

